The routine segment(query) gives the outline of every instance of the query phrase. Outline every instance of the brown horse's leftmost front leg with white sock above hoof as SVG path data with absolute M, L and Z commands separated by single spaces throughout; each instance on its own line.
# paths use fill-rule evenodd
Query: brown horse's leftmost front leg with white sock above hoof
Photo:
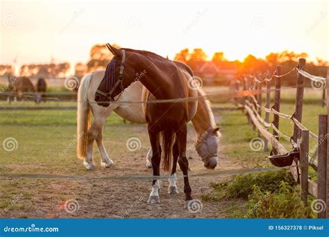
M 159 139 L 159 132 L 153 132 L 151 128 L 149 128 L 149 138 L 151 142 L 152 148 L 152 168 L 153 168 L 153 176 L 160 176 L 160 161 L 161 161 L 161 151 L 160 151 L 160 139 Z M 160 202 L 159 197 L 159 180 L 153 179 L 152 182 L 152 190 L 149 196 L 149 200 L 147 200 L 150 204 L 155 204 Z

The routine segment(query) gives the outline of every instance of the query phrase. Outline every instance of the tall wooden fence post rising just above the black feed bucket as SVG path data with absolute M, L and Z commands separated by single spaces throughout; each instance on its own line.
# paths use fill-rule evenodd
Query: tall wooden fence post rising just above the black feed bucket
M 305 69 L 306 60 L 300 58 L 298 60 L 298 69 Z M 294 116 L 301 123 L 303 115 L 303 97 L 304 97 L 304 77 L 301 73 L 297 72 L 297 94 L 296 94 L 296 103 L 295 103 L 295 113 Z M 301 137 L 301 130 L 298 128 L 298 125 L 294 125 L 294 135 L 293 139 L 298 144 L 298 139 Z

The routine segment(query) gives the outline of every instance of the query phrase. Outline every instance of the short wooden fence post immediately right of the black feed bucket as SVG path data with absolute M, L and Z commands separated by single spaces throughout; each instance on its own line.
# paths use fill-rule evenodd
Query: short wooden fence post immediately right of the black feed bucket
M 304 205 L 307 205 L 308 195 L 308 146 L 309 146 L 310 132 L 308 130 L 301 130 L 301 200 Z

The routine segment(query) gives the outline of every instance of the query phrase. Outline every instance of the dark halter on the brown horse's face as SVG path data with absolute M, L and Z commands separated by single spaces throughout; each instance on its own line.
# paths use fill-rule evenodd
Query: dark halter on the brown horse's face
M 124 62 L 126 61 L 126 51 L 124 50 L 121 51 L 122 51 L 122 60 L 120 63 L 118 80 L 115 82 L 115 70 L 117 69 L 117 61 L 111 60 L 110 63 L 108 64 L 108 67 L 106 68 L 106 72 L 108 73 L 106 80 L 106 91 L 109 90 L 108 93 L 96 89 L 97 94 L 100 94 L 101 96 L 105 96 L 106 98 L 108 98 L 108 100 L 110 100 L 110 102 L 116 101 L 115 98 L 112 97 L 112 93 L 115 91 L 115 89 L 117 89 L 119 84 L 120 84 L 121 92 L 124 91 Z

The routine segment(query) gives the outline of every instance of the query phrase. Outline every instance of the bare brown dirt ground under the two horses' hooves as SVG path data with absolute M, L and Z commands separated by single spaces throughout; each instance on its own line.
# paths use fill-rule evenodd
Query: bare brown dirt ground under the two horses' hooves
M 144 125 L 133 126 L 133 130 L 137 134 L 147 134 Z M 104 139 L 113 141 L 114 137 Z M 194 129 L 192 125 L 189 125 L 187 148 L 192 146 L 194 139 Z M 214 173 L 216 170 L 241 168 L 222 155 L 222 149 L 219 145 L 219 164 L 215 170 L 205 169 L 199 156 L 192 149 L 188 155 L 191 169 L 189 174 Z M 130 152 L 123 149 L 115 155 L 110 155 L 115 161 L 115 168 L 102 168 L 99 156 L 95 155 L 96 170 L 85 171 L 83 175 L 92 178 L 151 175 L 152 169 L 146 168 L 145 156 L 146 152 L 141 150 Z M 76 162 L 76 165 L 81 168 L 82 161 Z M 10 168 L 14 168 L 15 173 L 19 173 L 19 167 Z M 37 171 L 42 167 L 33 166 L 33 168 Z M 161 175 L 165 173 L 162 171 Z M 178 175 L 182 175 L 179 168 Z M 210 192 L 210 182 L 227 178 L 227 176 L 218 175 L 190 177 L 193 198 L 200 200 L 201 193 Z M 226 201 L 202 202 L 202 209 L 199 208 L 201 211 L 197 213 L 185 209 L 183 178 L 177 179 L 179 193 L 176 195 L 169 195 L 168 182 L 162 181 L 159 204 L 146 203 L 151 191 L 149 180 L 8 178 L 1 182 L 6 182 L 10 190 L 15 190 L 13 193 L 24 193 L 22 197 L 17 198 L 16 204 L 12 206 L 8 204 L 9 210 L 3 213 L 1 218 L 225 218 L 228 214 Z M 14 199 L 14 196 L 11 199 Z

